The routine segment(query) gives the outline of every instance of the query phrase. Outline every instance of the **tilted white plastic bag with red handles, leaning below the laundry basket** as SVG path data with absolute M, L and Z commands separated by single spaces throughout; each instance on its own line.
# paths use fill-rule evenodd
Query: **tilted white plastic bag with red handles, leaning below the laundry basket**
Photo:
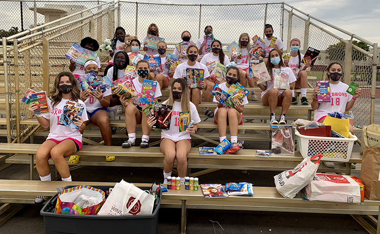
M 283 171 L 274 176 L 274 184 L 278 193 L 287 198 L 295 197 L 313 179 L 322 156 L 322 154 L 318 154 L 306 157 L 293 170 Z M 311 161 L 317 157 L 316 162 Z

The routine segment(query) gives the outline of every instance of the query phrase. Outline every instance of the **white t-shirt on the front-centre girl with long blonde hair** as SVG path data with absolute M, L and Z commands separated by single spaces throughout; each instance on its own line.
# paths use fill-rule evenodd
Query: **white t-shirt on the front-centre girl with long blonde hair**
M 161 138 L 169 138 L 170 140 L 174 142 L 177 142 L 183 139 L 191 139 L 190 134 L 187 133 L 186 131 L 180 132 L 180 127 L 179 127 L 180 112 L 182 112 L 181 102 L 174 101 L 173 115 L 170 120 L 170 128 L 169 130 L 162 129 Z M 190 120 L 194 120 L 195 123 L 200 122 L 198 111 L 196 110 L 196 107 L 192 102 L 190 102 L 190 117 L 191 117 Z

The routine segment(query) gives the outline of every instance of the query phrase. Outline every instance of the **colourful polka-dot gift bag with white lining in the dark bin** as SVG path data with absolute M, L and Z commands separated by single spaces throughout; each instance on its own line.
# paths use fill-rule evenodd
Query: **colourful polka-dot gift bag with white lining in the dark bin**
M 76 186 L 58 195 L 55 213 L 96 215 L 102 207 L 106 194 L 88 185 Z

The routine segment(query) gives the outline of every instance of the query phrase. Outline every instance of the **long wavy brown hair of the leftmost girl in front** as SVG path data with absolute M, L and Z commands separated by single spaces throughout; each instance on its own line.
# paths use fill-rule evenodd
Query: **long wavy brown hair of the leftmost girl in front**
M 62 93 L 61 91 L 59 91 L 59 81 L 61 80 L 61 77 L 69 77 L 69 81 L 73 85 L 73 90 L 71 91 L 72 93 L 71 100 L 77 102 L 80 97 L 80 89 L 74 75 L 71 72 L 61 72 L 55 78 L 54 86 L 50 90 L 50 94 L 51 94 L 50 99 L 52 101 L 53 108 L 62 101 Z

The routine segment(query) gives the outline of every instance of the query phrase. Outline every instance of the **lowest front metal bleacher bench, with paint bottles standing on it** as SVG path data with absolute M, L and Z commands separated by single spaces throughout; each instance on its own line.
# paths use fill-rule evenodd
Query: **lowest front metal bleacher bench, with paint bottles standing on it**
M 0 180 L 0 202 L 33 203 L 36 195 L 53 196 L 57 193 L 56 188 L 69 185 L 114 187 L 115 183 Z M 150 186 L 150 184 L 135 185 Z M 212 199 L 205 198 L 200 188 L 198 191 L 190 191 L 181 186 L 181 190 L 169 190 L 162 194 L 161 207 L 181 208 L 182 234 L 186 233 L 187 209 L 350 214 L 369 233 L 380 234 L 380 201 L 365 199 L 364 204 L 305 201 L 300 195 L 293 199 L 284 198 L 273 187 L 253 187 L 253 191 L 255 194 L 250 196 L 229 196 Z M 360 215 L 368 215 L 370 222 L 377 226 L 377 230 Z M 374 218 L 373 215 L 379 215 L 378 219 Z M 302 233 L 301 230 L 300 233 Z

